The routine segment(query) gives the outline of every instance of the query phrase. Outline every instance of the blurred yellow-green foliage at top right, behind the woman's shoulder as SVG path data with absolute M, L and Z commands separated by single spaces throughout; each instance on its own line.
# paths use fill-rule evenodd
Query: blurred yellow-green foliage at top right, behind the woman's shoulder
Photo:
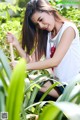
M 53 6 L 53 8 L 56 8 L 62 16 L 64 16 L 68 20 L 74 22 L 80 32 L 80 9 L 79 8 L 74 7 L 73 5 L 65 6 L 63 4 L 60 4 L 60 2 L 62 2 L 62 0 L 56 0 L 55 2 L 53 0 L 49 0 L 49 2 Z

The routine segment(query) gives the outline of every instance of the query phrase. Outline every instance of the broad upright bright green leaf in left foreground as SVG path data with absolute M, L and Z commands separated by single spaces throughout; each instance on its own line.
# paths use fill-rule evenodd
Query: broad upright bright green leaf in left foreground
M 25 69 L 26 62 L 21 59 L 11 76 L 6 104 L 9 120 L 20 120 L 19 114 L 24 94 Z

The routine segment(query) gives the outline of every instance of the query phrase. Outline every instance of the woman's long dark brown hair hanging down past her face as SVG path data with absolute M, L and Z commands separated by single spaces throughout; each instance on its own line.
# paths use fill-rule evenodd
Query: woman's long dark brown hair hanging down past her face
M 36 12 L 52 12 L 57 21 L 64 21 L 57 10 L 53 9 L 47 0 L 31 0 L 27 3 L 24 23 L 22 28 L 22 47 L 26 48 L 26 52 L 30 54 L 32 49 L 37 51 L 37 59 L 44 54 L 46 56 L 48 31 L 36 28 L 31 21 L 31 16 Z

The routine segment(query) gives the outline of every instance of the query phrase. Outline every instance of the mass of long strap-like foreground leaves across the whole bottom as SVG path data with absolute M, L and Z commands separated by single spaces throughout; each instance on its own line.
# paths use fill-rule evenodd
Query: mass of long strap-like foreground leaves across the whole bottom
M 46 70 L 29 73 L 25 69 L 26 63 L 22 59 L 11 71 L 6 56 L 0 50 L 0 112 L 7 111 L 9 120 L 35 120 L 35 117 L 39 120 L 79 120 L 80 75 L 65 88 L 57 101 L 43 101 L 50 90 L 59 84 L 55 81 L 40 101 L 34 103 L 42 81 L 50 79 L 50 75 Z M 36 78 L 29 81 L 32 75 Z M 51 80 L 54 81 L 52 78 Z

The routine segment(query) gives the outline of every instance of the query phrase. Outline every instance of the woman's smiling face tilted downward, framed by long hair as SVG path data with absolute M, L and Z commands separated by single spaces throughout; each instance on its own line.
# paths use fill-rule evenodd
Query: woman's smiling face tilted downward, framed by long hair
M 32 17 L 32 22 L 42 30 L 51 32 L 55 27 L 55 20 L 52 13 L 38 12 L 36 11 Z

